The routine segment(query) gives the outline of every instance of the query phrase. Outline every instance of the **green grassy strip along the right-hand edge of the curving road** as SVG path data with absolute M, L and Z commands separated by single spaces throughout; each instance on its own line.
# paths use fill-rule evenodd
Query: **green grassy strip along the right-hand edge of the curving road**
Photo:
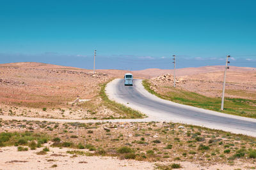
M 159 94 L 150 89 L 152 84 L 148 80 L 143 80 L 143 86 L 151 94 L 175 103 L 186 104 L 207 110 L 220 111 L 222 113 L 238 115 L 241 117 L 256 118 L 256 100 L 225 97 L 224 110 L 222 111 L 220 110 L 221 98 L 202 96 L 195 92 L 189 92 L 174 87 L 161 87 L 168 89 L 168 92 L 165 94 Z

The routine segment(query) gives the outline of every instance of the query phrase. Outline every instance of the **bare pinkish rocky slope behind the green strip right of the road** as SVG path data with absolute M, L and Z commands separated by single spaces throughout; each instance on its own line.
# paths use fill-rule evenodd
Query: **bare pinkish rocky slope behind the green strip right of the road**
M 164 94 L 173 86 L 173 75 L 164 74 L 151 78 L 153 90 Z M 256 99 L 256 69 L 227 71 L 226 97 Z M 176 87 L 190 92 L 202 94 L 207 97 L 221 97 L 223 88 L 223 72 L 199 73 L 189 76 L 177 76 Z

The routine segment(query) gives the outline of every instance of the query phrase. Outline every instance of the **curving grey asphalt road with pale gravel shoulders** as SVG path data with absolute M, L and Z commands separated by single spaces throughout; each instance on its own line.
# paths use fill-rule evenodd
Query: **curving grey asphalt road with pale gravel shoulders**
M 142 80 L 134 80 L 133 86 L 124 86 L 124 80 L 116 79 L 106 87 L 109 98 L 145 113 L 145 121 L 168 121 L 200 125 L 256 137 L 256 120 L 159 99 L 143 88 Z

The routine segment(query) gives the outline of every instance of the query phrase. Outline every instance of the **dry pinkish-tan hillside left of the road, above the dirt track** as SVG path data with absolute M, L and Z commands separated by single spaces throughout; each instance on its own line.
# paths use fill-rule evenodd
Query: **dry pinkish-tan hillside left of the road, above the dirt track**
M 1 114 L 42 118 L 105 118 L 118 113 L 100 106 L 106 73 L 21 62 L 0 65 Z

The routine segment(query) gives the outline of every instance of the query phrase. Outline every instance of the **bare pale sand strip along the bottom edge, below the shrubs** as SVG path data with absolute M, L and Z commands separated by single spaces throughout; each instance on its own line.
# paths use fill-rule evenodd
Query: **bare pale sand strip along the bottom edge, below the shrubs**
M 50 148 L 47 155 L 36 155 L 36 150 L 17 152 L 17 147 L 9 146 L 0 150 L 0 169 L 154 169 L 156 164 L 171 164 L 172 162 L 142 162 L 136 160 L 120 160 L 114 157 L 86 157 L 77 155 L 72 157 L 67 153 L 67 148 Z M 235 162 L 230 166 L 227 164 L 216 164 L 201 166 L 193 162 L 175 162 L 180 164 L 180 169 L 250 169 L 255 164 Z M 56 167 L 52 167 L 56 165 Z

